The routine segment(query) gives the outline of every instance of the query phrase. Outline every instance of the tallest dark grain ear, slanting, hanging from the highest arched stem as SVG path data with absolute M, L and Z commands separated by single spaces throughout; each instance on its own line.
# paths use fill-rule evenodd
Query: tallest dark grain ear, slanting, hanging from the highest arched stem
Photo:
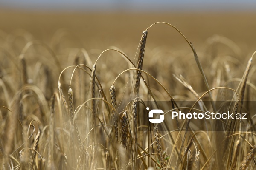
M 142 37 L 140 40 L 140 51 L 139 51 L 139 57 L 137 61 L 137 68 L 142 70 L 143 66 L 143 59 L 144 59 L 144 52 L 145 52 L 145 45 L 147 40 L 148 30 L 143 31 Z M 141 71 L 136 71 L 136 81 L 134 86 L 134 96 L 137 97 L 137 94 L 139 93 L 140 89 L 140 77 L 141 77 Z

